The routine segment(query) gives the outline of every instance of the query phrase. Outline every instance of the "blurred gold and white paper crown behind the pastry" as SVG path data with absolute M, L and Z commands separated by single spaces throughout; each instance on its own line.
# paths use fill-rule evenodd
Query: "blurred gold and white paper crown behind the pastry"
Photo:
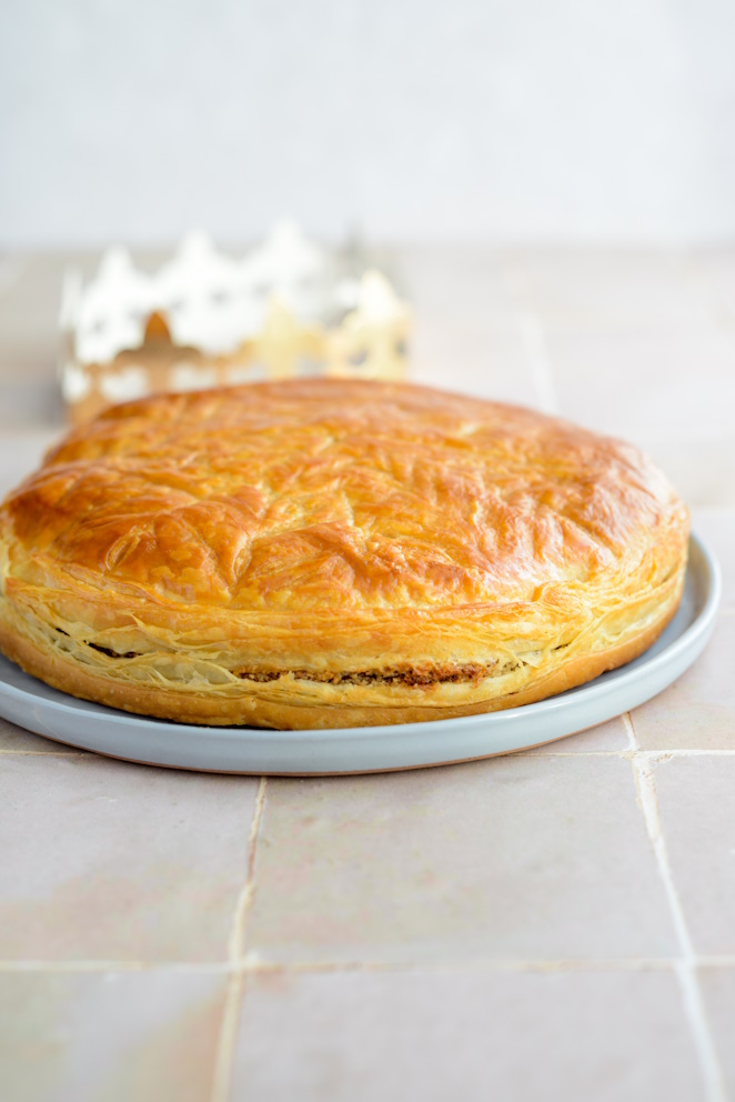
M 67 273 L 60 320 L 61 390 L 80 422 L 161 390 L 403 378 L 411 311 L 354 249 L 328 252 L 280 222 L 241 258 L 190 233 L 153 274 L 112 249 L 87 285 Z

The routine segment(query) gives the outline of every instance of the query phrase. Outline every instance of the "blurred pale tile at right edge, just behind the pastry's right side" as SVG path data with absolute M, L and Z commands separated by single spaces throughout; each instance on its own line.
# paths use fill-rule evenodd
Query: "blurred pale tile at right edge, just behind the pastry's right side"
M 732 439 L 735 332 L 570 330 L 548 333 L 547 345 L 564 417 L 647 447 Z

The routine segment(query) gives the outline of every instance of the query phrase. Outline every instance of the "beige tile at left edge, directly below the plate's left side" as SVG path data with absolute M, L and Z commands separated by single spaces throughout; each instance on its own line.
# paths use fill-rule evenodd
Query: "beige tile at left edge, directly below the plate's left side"
M 0 755 L 0 958 L 224 959 L 256 783 Z

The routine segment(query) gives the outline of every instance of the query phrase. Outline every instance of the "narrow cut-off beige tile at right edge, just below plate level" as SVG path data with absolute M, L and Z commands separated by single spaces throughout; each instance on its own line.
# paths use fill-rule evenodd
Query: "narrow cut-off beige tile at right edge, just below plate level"
M 695 951 L 735 955 L 735 758 L 656 765 L 664 838 Z

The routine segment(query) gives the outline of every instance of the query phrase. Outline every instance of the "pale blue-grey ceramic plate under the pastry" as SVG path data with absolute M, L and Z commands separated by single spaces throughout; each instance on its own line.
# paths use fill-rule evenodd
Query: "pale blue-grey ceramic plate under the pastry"
M 641 658 L 578 689 L 489 715 L 340 731 L 190 727 L 75 700 L 0 655 L 0 715 L 114 758 L 225 773 L 355 773 L 466 761 L 534 747 L 603 723 L 675 681 L 712 634 L 719 569 L 697 537 L 681 608 Z

